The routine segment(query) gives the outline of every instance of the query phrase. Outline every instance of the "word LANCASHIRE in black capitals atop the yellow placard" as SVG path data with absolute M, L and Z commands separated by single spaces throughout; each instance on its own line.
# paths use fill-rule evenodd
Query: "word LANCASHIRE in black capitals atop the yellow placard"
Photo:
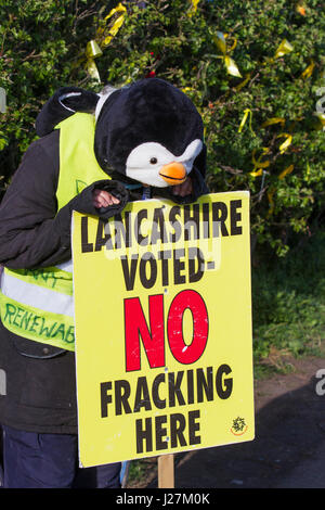
M 99 219 L 96 234 L 89 237 L 88 217 L 81 218 L 81 253 L 119 252 L 146 246 L 162 246 L 184 241 L 242 235 L 242 200 L 194 203 L 154 209 L 143 207 L 136 213 L 127 211 L 112 220 Z M 117 253 L 120 256 L 120 253 Z

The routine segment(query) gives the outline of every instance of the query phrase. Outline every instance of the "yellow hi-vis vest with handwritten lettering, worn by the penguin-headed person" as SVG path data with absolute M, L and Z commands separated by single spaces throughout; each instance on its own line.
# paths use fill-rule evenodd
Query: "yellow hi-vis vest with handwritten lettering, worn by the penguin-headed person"
M 60 123 L 57 211 L 83 188 L 108 179 L 96 162 L 95 119 L 76 113 Z M 41 269 L 4 268 L 1 277 L 0 314 L 3 326 L 36 342 L 75 349 L 73 263 Z

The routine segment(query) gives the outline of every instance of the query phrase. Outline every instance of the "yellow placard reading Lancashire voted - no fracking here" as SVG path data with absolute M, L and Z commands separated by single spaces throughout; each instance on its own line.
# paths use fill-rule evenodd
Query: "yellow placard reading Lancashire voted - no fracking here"
M 251 441 L 248 192 L 74 213 L 83 467 Z

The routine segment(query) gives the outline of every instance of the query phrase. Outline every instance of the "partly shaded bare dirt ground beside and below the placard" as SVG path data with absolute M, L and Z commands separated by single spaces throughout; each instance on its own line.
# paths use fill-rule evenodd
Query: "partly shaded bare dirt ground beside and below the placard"
M 268 362 L 291 370 L 256 382 L 256 438 L 177 454 L 176 488 L 325 488 L 325 395 L 316 393 L 325 349 L 300 359 L 273 353 Z M 128 487 L 157 487 L 157 459 Z

